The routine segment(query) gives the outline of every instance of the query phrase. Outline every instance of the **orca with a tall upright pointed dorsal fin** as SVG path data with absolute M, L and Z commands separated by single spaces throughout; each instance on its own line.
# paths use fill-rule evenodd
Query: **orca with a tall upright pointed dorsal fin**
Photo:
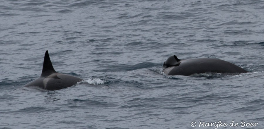
M 47 50 L 44 56 L 43 68 L 40 77 L 29 82 L 23 87 L 38 86 L 45 90 L 60 90 L 62 88 L 71 87 L 79 81 L 82 81 L 82 79 L 56 72 L 52 66 Z

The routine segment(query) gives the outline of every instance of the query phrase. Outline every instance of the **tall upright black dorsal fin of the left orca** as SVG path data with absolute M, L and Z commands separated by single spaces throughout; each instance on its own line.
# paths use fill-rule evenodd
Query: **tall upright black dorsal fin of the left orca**
M 49 52 L 48 50 L 46 51 L 45 53 L 45 56 L 44 56 L 44 61 L 43 61 L 43 67 L 42 67 L 42 73 L 41 73 L 41 76 L 48 76 L 52 73 L 57 73 L 53 66 L 52 66 L 52 63 L 50 61 L 50 56 L 49 56 Z

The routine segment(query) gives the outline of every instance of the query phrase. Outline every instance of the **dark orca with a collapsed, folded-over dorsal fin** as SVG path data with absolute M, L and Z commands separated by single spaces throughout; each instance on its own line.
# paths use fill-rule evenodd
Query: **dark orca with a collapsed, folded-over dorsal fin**
M 177 56 L 170 56 L 163 63 L 163 72 L 166 75 L 199 74 L 205 72 L 213 73 L 247 73 L 248 71 L 234 65 L 233 63 L 213 58 L 197 58 L 180 60 Z

